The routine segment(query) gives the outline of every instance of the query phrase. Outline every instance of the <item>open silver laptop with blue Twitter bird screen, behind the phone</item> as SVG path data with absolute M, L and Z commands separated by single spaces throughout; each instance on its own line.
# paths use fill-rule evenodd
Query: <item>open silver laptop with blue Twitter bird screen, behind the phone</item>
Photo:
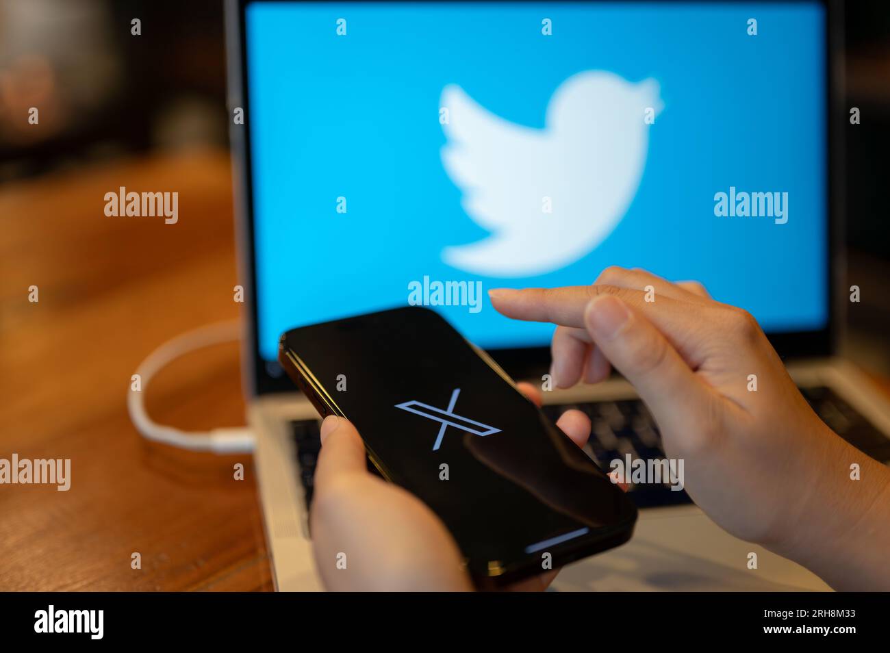
M 244 383 L 279 590 L 320 589 L 320 424 L 277 347 L 324 320 L 423 303 L 542 383 L 554 327 L 500 316 L 485 290 L 610 265 L 696 279 L 758 319 L 837 433 L 890 460 L 886 402 L 834 355 L 849 301 L 838 18 L 806 1 L 228 3 Z M 621 379 L 543 394 L 554 417 L 591 416 L 599 464 L 664 456 Z M 631 542 L 555 589 L 828 589 L 683 491 L 630 496 Z

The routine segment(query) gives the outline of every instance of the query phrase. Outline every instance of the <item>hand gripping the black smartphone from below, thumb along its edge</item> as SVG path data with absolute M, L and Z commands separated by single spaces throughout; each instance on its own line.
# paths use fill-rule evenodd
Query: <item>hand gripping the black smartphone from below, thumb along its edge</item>
M 520 389 L 540 403 L 535 388 L 521 384 Z M 590 420 L 580 411 L 567 411 L 557 426 L 579 447 L 587 442 Z M 365 447 L 352 423 L 328 416 L 321 424 L 321 443 L 310 520 L 316 567 L 328 590 L 473 590 L 457 544 L 441 520 L 407 490 L 368 472 Z M 340 568 L 343 561 L 345 568 Z M 543 590 L 556 573 L 506 589 Z

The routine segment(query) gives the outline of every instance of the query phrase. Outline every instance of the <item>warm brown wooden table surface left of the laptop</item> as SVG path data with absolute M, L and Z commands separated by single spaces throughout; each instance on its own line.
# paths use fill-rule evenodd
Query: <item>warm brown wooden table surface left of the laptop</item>
M 120 186 L 178 191 L 179 222 L 106 217 Z M 0 226 L 0 458 L 70 458 L 72 479 L 68 492 L 0 485 L 0 590 L 270 590 L 252 457 L 148 444 L 125 406 L 158 344 L 239 314 L 228 155 L 6 184 Z M 233 343 L 171 365 L 146 391 L 150 415 L 244 423 L 238 355 Z

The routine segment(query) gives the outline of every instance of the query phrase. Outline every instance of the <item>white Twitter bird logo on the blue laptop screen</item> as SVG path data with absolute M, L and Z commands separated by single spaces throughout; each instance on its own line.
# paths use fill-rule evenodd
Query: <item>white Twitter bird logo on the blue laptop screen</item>
M 466 214 L 491 232 L 446 247 L 442 260 L 490 277 L 530 277 L 578 261 L 617 226 L 643 176 L 646 109 L 658 114 L 661 101 L 654 79 L 632 84 L 588 70 L 556 89 L 544 129 L 498 117 L 453 84 L 440 106 L 449 109 L 442 164 Z

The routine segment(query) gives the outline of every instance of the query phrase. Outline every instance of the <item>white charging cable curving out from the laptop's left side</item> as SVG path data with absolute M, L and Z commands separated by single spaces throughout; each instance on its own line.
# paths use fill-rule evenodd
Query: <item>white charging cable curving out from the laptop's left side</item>
M 142 399 L 142 393 L 148 387 L 149 379 L 170 361 L 178 359 L 190 351 L 210 347 L 214 344 L 230 343 L 238 340 L 239 337 L 239 320 L 217 322 L 177 335 L 152 351 L 136 370 L 136 374 L 140 376 L 141 389 L 133 390 L 131 385 L 130 395 L 126 398 L 126 407 L 136 431 L 139 431 L 145 439 L 191 451 L 212 451 L 214 454 L 239 454 L 253 451 L 254 434 L 247 427 L 238 426 L 214 429 L 213 431 L 180 431 L 172 426 L 164 426 L 152 421 L 145 412 L 145 401 Z

